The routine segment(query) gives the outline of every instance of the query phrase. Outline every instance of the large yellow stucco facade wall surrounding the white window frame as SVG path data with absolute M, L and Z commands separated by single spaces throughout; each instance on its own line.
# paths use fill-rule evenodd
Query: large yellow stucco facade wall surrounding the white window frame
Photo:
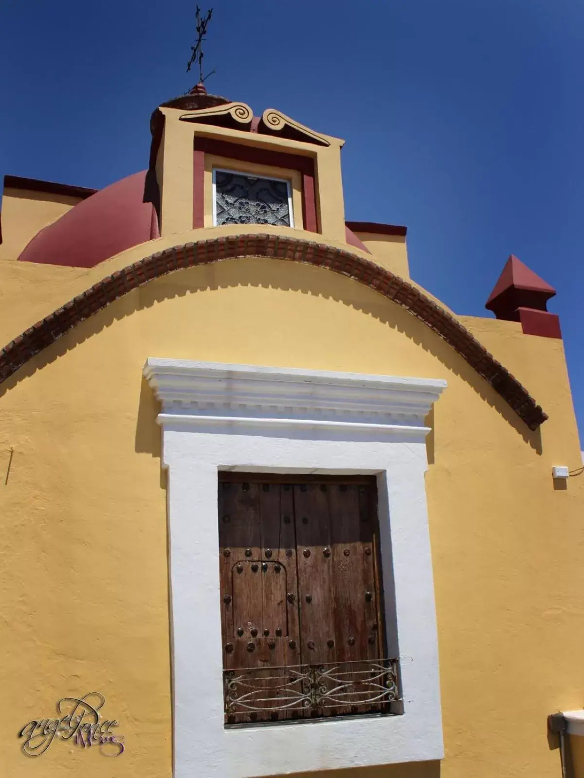
M 51 268 L 51 295 L 68 299 L 160 242 L 92 271 Z M 23 329 L 22 279 L 12 275 L 2 301 L 4 342 Z M 558 776 L 546 717 L 579 707 L 584 687 L 584 478 L 565 490 L 551 478 L 553 464 L 579 463 L 564 355 L 561 342 L 512 323 L 465 323 L 550 413 L 540 433 L 396 304 L 331 272 L 260 258 L 157 279 L 0 385 L 6 775 L 104 776 L 97 749 L 55 742 L 30 762 L 16 739 L 60 697 L 97 690 L 127 745 L 107 775 L 171 776 L 166 492 L 142 380 L 146 358 L 164 356 L 448 380 L 427 473 L 445 759 L 347 776 Z

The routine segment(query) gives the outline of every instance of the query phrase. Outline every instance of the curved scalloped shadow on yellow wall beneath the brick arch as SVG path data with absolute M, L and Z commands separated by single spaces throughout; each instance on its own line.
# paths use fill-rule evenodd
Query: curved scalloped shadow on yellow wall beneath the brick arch
M 63 356 L 87 338 L 97 334 L 104 328 L 110 327 L 111 324 L 114 324 L 114 321 L 134 314 L 137 310 L 153 307 L 157 303 L 177 296 L 195 295 L 206 290 L 213 291 L 234 286 L 258 286 L 266 289 L 295 291 L 322 297 L 323 299 L 336 300 L 339 303 L 360 310 L 368 316 L 375 317 L 382 324 L 386 324 L 390 328 L 406 335 L 412 342 L 419 345 L 421 349 L 436 357 L 448 370 L 461 377 L 466 384 L 473 387 L 473 390 L 480 395 L 480 398 L 491 405 L 509 425 L 516 429 L 523 440 L 537 454 L 541 454 L 540 429 L 530 430 L 525 422 L 519 419 L 519 416 L 501 398 L 501 395 L 494 391 L 487 384 L 487 381 L 466 363 L 462 356 L 446 344 L 426 324 L 397 303 L 387 300 L 384 296 L 376 294 L 372 289 L 361 285 L 353 279 L 347 279 L 343 275 L 325 268 L 303 265 L 304 272 L 301 272 L 300 268 L 298 272 L 301 282 L 291 284 L 290 282 L 283 282 L 282 265 L 290 265 L 289 262 L 284 260 L 266 260 L 264 258 L 230 259 L 224 260 L 221 262 L 221 265 L 224 262 L 229 262 L 231 265 L 229 279 L 224 282 L 221 282 L 220 279 L 222 268 L 219 268 L 218 265 L 220 263 L 216 262 L 211 265 L 201 265 L 165 275 L 119 298 L 97 314 L 83 321 L 76 328 L 65 333 L 62 338 L 49 345 L 47 349 L 34 356 L 33 359 L 30 359 L 13 376 L 6 379 L 3 384 L 0 384 L 0 397 L 18 384 L 20 380 L 23 380 L 24 377 L 32 375 L 36 370 L 40 370 L 48 363 Z M 271 266 L 267 266 L 266 262 Z M 196 304 L 196 298 L 193 299 L 193 304 Z M 202 333 L 202 335 L 204 334 Z M 326 348 L 325 342 L 323 342 L 323 348 Z M 142 385 L 140 408 L 146 415 L 150 413 L 148 410 L 150 408 L 150 399 L 145 387 Z M 149 433 L 137 430 L 136 445 L 141 447 L 140 450 L 149 451 L 153 456 L 160 456 L 160 436 L 157 443 L 154 444 L 153 439 L 151 440 L 149 437 Z M 154 453 L 156 446 L 158 447 L 158 454 Z

